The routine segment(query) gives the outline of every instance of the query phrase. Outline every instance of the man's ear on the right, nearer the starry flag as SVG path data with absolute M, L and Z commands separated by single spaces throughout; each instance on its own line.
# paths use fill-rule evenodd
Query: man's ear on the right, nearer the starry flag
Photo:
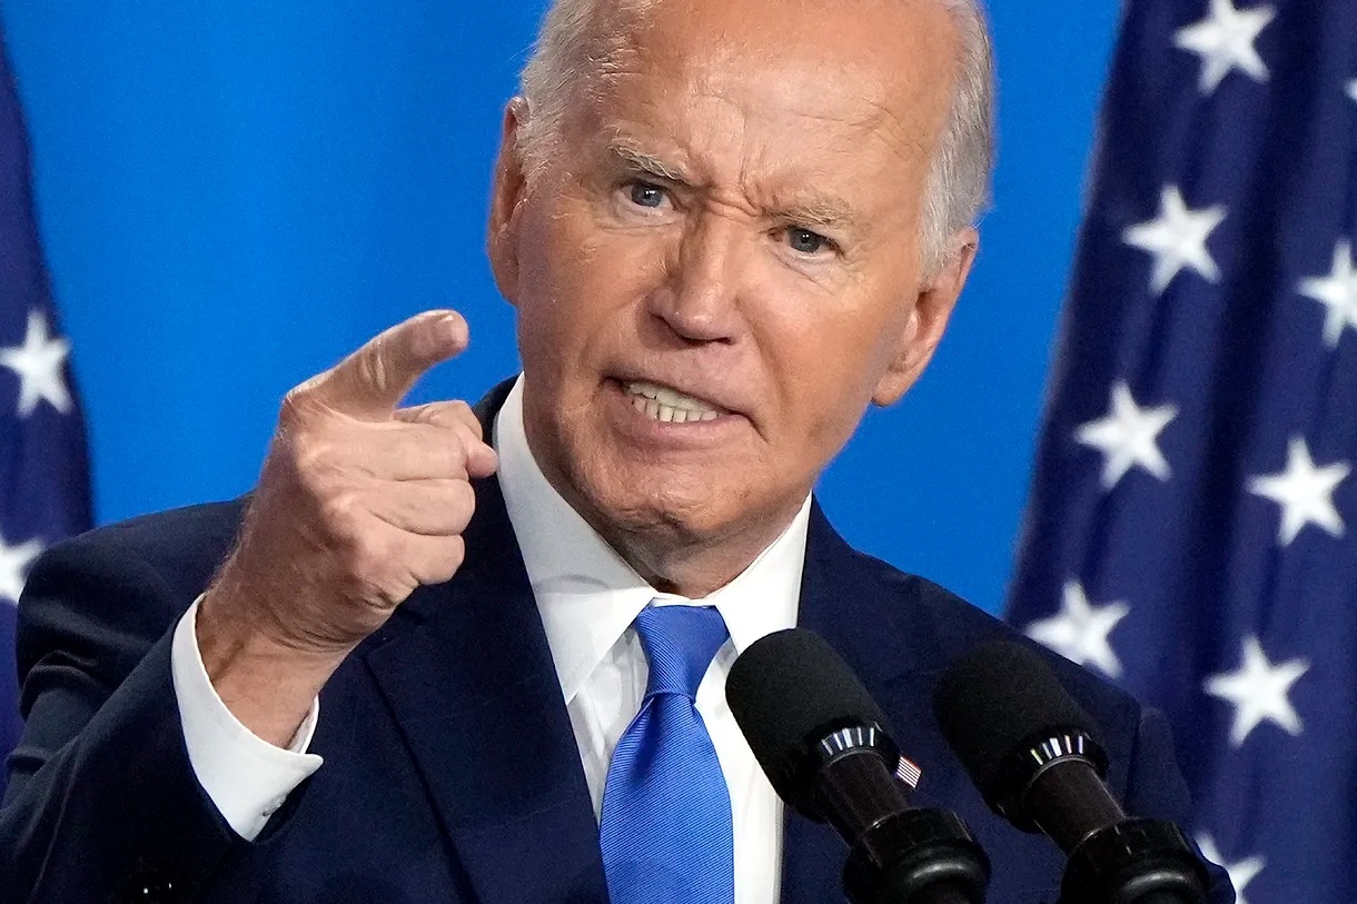
M 898 353 L 871 394 L 874 403 L 885 407 L 898 402 L 928 366 L 970 276 L 978 246 L 980 233 L 973 228 L 951 236 L 942 269 L 921 288 L 913 303 L 900 337 Z

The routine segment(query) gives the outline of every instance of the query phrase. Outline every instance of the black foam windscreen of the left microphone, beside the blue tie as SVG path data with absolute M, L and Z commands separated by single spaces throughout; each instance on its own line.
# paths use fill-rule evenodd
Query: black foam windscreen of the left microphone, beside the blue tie
M 813 779 L 810 752 L 821 738 L 870 723 L 890 734 L 848 664 L 805 628 L 776 631 L 741 653 L 726 679 L 726 700 L 773 789 L 802 812 Z

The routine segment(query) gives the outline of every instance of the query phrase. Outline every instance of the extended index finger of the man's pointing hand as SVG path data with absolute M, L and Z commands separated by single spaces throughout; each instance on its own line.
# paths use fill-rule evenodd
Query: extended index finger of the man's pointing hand
M 377 335 L 299 390 L 357 418 L 387 418 L 425 372 L 465 349 L 468 337 L 467 322 L 456 311 L 426 311 Z

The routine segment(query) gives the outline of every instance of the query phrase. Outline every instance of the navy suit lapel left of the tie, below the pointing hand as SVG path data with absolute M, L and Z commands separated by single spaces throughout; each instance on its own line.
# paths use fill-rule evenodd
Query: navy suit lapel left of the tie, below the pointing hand
M 490 421 L 501 384 L 478 406 Z M 375 637 L 366 665 L 484 904 L 607 901 L 598 827 L 499 483 L 476 481 L 467 559 Z

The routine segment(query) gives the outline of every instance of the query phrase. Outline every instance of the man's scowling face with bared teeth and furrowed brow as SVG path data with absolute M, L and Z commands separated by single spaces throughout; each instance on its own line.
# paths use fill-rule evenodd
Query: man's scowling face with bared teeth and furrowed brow
M 925 274 L 919 239 L 957 35 L 932 0 L 616 20 L 532 179 L 510 109 L 491 257 L 535 457 L 664 578 L 668 557 L 756 554 L 940 338 L 972 254 Z

